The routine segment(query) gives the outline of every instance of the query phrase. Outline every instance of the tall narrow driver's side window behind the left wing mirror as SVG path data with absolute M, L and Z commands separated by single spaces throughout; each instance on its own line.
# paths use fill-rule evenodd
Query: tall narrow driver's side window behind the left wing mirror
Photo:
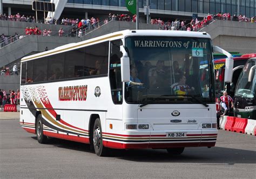
M 110 49 L 110 86 L 111 95 L 114 104 L 123 103 L 123 83 L 121 80 L 121 65 L 120 58 L 122 53 L 120 52 L 120 44 L 122 40 L 114 40 L 111 42 Z

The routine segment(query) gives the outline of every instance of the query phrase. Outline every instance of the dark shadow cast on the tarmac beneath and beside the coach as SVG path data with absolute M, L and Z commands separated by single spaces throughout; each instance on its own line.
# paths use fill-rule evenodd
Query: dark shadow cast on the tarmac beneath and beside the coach
M 37 140 L 36 137 L 32 139 Z M 50 138 L 49 145 L 80 152 L 94 153 L 90 144 Z M 133 162 L 201 163 L 208 165 L 233 165 L 235 163 L 255 164 L 256 152 L 225 147 L 187 147 L 181 155 L 170 155 L 165 149 L 110 149 L 108 157 Z

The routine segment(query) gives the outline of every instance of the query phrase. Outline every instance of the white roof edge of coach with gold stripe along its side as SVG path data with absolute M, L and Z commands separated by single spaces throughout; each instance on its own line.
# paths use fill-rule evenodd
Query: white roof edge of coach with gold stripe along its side
M 62 53 L 70 50 L 79 49 L 81 47 L 96 44 L 98 42 L 104 42 L 107 40 L 121 39 L 126 36 L 169 36 L 169 37 L 190 37 L 190 38 L 209 38 L 211 36 L 206 32 L 190 32 L 190 31 L 164 31 L 164 30 L 124 30 L 109 33 L 108 35 L 92 38 L 89 40 L 84 40 L 78 43 L 66 44 L 63 46 L 56 47 L 55 49 L 36 53 L 31 56 L 27 56 L 21 59 L 21 61 L 32 60 L 36 58 L 42 58 L 46 56 L 50 56 L 57 53 Z

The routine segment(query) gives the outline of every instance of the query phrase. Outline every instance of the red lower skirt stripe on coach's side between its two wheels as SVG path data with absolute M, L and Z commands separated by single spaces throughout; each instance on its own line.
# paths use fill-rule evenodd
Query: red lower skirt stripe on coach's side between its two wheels
M 85 137 L 78 137 L 78 136 L 66 135 L 66 134 L 57 134 L 57 133 L 52 133 L 45 130 L 43 131 L 43 134 L 46 136 L 55 137 L 58 139 L 65 139 L 65 140 L 81 142 L 81 143 L 90 143 L 89 138 L 85 138 Z

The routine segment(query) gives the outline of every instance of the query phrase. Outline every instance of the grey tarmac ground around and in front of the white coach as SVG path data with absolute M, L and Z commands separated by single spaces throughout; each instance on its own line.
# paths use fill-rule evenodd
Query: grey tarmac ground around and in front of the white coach
M 19 120 L 0 120 L 0 178 L 256 178 L 256 137 L 219 130 L 216 147 L 112 150 L 98 157 L 86 144 L 39 144 Z

